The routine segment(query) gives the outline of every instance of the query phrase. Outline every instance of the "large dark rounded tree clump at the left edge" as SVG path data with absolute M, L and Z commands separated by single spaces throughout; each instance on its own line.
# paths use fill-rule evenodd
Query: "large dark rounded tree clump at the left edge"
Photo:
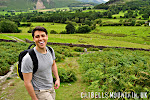
M 0 22 L 0 32 L 2 33 L 18 33 L 18 26 L 12 21 L 1 21 Z

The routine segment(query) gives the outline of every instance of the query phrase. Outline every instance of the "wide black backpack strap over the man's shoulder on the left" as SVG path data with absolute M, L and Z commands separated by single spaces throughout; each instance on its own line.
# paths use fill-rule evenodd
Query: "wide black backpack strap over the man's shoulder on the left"
M 37 59 L 37 56 L 36 56 L 33 48 L 29 49 L 29 55 L 30 55 L 32 62 L 33 62 L 33 74 L 34 74 L 38 69 L 38 59 Z

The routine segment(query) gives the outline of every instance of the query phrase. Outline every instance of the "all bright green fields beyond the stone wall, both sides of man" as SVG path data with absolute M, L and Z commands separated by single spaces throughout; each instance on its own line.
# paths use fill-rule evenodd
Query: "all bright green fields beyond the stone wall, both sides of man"
M 116 21 L 118 21 L 118 19 L 116 19 Z M 36 26 L 45 27 L 48 33 L 50 33 L 51 30 L 60 33 L 65 30 L 66 24 L 54 23 L 53 25 L 53 23 L 32 23 L 32 28 Z M 8 36 L 14 36 L 22 40 L 25 40 L 25 38 L 32 40 L 31 33 L 27 33 L 29 27 L 19 27 L 19 29 L 22 30 L 22 33 L 0 34 L 0 38 L 7 39 Z M 48 34 L 48 42 L 150 49 L 149 32 L 150 27 L 144 26 L 97 26 L 95 30 L 88 34 Z

